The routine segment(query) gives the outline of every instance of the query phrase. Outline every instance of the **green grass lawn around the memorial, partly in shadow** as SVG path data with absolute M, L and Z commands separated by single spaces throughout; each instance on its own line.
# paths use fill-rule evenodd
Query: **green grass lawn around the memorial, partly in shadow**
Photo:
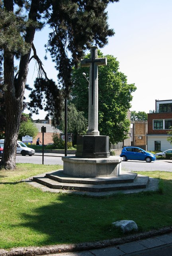
M 123 236 L 112 227 L 134 220 L 139 231 L 172 225 L 172 173 L 139 172 L 163 181 L 163 193 L 118 194 L 93 198 L 42 192 L 21 182 L 61 166 L 17 164 L 0 170 L 0 248 L 98 241 Z

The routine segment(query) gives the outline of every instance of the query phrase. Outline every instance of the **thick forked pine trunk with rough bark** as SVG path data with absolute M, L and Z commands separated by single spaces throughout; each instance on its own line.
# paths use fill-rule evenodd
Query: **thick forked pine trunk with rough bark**
M 4 0 L 4 7 L 8 11 L 13 11 L 13 0 Z M 39 0 L 32 0 L 29 12 L 30 19 L 34 21 L 37 20 L 38 8 Z M 34 35 L 35 28 L 33 26 L 27 28 L 25 42 L 29 43 L 30 46 L 32 45 Z M 17 140 L 23 110 L 23 96 L 27 80 L 30 53 L 31 48 L 27 54 L 21 57 L 18 78 L 14 83 L 14 54 L 12 52 L 4 51 L 6 127 L 4 153 L 0 162 L 0 168 L 16 168 Z

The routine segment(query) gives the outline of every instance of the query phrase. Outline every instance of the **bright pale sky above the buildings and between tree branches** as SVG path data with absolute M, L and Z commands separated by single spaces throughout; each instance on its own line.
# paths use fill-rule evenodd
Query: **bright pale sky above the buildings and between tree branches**
M 155 100 L 172 99 L 172 0 L 120 0 L 109 4 L 107 10 L 115 36 L 101 51 L 116 57 L 128 84 L 135 83 L 137 87 L 130 110 L 149 113 L 155 109 Z M 34 43 L 42 60 L 46 40 L 45 32 L 37 32 Z M 48 77 L 56 80 L 51 58 L 43 62 Z M 30 85 L 34 80 L 33 66 L 29 66 Z M 44 117 L 41 111 L 33 119 Z

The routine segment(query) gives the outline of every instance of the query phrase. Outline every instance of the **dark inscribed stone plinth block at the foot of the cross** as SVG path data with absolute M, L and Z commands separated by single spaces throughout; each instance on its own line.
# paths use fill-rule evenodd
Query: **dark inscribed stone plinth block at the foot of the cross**
M 76 157 L 107 158 L 109 156 L 109 136 L 77 136 Z

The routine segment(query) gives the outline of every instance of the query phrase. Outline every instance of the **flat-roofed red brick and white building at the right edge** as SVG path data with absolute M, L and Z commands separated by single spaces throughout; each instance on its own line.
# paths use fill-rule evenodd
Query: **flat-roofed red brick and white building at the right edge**
M 147 150 L 172 148 L 167 141 L 172 126 L 172 100 L 155 100 L 155 110 L 150 111 L 147 122 Z

